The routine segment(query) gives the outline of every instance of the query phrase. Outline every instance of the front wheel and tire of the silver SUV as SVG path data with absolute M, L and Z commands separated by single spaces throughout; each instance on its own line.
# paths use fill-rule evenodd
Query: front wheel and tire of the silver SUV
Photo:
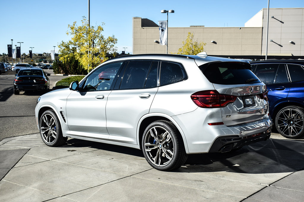
M 47 146 L 57 147 L 64 145 L 67 141 L 67 138 L 62 136 L 59 119 L 53 110 L 43 112 L 39 128 L 41 138 Z

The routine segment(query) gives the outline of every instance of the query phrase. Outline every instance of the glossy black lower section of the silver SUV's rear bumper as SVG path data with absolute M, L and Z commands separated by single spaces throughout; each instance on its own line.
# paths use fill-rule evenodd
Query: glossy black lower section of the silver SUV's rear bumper
M 272 127 L 269 127 L 264 132 L 256 133 L 244 137 L 239 137 L 238 135 L 217 137 L 216 140 L 211 145 L 209 149 L 209 153 L 228 152 L 249 144 L 253 144 L 255 142 L 268 140 L 270 138 L 271 128 Z

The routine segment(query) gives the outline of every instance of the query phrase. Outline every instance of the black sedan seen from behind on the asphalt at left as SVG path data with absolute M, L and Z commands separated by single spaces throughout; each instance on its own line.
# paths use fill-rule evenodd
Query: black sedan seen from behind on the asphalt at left
M 20 91 L 44 91 L 50 89 L 50 80 L 40 68 L 21 69 L 14 81 L 14 94 L 19 95 Z

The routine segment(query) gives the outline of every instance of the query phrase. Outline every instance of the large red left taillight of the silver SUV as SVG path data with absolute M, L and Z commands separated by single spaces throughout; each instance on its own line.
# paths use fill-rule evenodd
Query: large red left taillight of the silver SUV
M 220 94 L 216 90 L 199 91 L 191 95 L 192 101 L 202 108 L 220 108 L 237 99 L 235 95 Z

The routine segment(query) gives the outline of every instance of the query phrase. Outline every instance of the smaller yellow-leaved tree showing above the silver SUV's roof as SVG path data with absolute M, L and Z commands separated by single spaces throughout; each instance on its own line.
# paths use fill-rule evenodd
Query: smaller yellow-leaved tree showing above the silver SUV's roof
M 204 45 L 206 43 L 194 41 L 194 34 L 188 32 L 188 36 L 186 41 L 183 41 L 183 46 L 178 49 L 177 53 L 171 54 L 178 54 L 178 55 L 196 55 L 200 52 L 204 51 Z

